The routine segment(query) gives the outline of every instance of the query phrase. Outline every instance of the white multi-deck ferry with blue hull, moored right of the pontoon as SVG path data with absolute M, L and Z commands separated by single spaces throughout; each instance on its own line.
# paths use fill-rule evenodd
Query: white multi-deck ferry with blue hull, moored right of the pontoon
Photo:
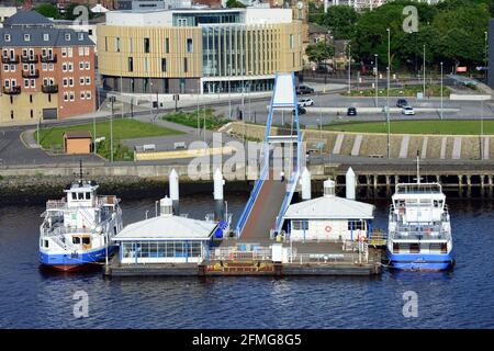
M 389 218 L 388 258 L 396 269 L 441 271 L 454 264 L 451 224 L 439 183 L 398 183 Z

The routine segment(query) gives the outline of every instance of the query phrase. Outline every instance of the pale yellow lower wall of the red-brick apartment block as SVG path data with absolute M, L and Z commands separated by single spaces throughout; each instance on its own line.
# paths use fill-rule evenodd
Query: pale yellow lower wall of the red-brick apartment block
M 48 95 L 50 95 L 50 101 Z M 57 106 L 58 93 L 30 93 L 27 90 L 22 90 L 19 95 L 2 94 L 0 97 L 0 125 L 34 123 L 43 118 L 43 109 L 57 109 Z M 33 111 L 32 114 L 31 111 Z M 11 112 L 13 112 L 13 118 Z

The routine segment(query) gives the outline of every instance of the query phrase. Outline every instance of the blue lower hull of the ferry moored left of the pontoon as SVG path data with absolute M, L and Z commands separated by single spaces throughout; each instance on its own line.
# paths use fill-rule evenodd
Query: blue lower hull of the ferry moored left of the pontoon
M 116 247 L 109 247 L 109 256 L 113 254 Z M 72 253 L 47 253 L 40 251 L 40 262 L 58 271 L 80 271 L 91 263 L 102 262 L 106 256 L 105 248 L 99 248 L 91 251 L 81 252 L 78 254 Z

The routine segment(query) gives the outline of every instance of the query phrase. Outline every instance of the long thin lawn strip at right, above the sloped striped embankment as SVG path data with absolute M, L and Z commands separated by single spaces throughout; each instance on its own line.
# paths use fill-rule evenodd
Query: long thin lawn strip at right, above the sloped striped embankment
M 494 120 L 484 120 L 483 133 L 494 134 Z M 392 121 L 391 133 L 396 134 L 481 134 L 481 121 L 472 120 L 417 120 Z M 324 126 L 326 131 L 356 132 L 356 133 L 388 133 L 385 122 L 349 122 L 335 123 Z

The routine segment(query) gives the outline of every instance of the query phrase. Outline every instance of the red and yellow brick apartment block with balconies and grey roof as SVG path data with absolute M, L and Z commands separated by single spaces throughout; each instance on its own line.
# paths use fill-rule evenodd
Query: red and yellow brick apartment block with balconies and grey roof
M 96 110 L 94 43 L 19 11 L 0 29 L 0 125 L 59 120 Z

